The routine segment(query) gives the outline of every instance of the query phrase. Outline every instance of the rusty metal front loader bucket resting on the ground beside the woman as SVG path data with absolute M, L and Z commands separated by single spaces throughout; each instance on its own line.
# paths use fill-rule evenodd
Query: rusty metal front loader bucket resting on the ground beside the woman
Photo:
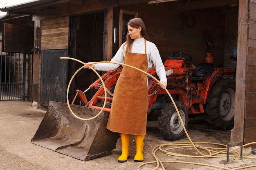
M 91 118 L 99 113 L 88 107 L 70 105 L 81 118 Z M 62 154 L 88 161 L 102 157 L 115 149 L 118 134 L 106 129 L 108 112 L 90 121 L 72 115 L 67 103 L 49 102 L 48 110 L 31 143 Z

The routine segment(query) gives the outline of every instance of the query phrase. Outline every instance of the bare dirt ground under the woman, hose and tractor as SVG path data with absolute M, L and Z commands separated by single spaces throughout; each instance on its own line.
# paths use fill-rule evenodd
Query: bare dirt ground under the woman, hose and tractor
M 30 140 L 36 133 L 45 115 L 45 110 L 32 108 L 30 102 L 23 101 L 1 101 L 0 109 L 0 170 L 162 170 L 161 166 L 157 168 L 156 163 L 148 163 L 155 161 L 152 154 L 153 148 L 160 144 L 189 142 L 187 136 L 184 136 L 179 141 L 162 139 L 157 129 L 158 121 L 149 121 L 145 137 L 143 161 L 143 163 L 147 164 L 141 166 L 141 162 L 133 161 L 135 155 L 134 136 L 131 136 L 130 139 L 130 159 L 125 163 L 117 162 L 117 157 L 121 154 L 120 139 L 118 139 L 116 148 L 112 150 L 112 153 L 90 161 L 81 161 L 31 143 Z M 209 129 L 208 124 L 203 121 L 203 115 L 190 118 L 187 131 L 193 142 L 214 142 L 223 145 L 230 143 L 230 131 L 223 132 Z M 220 148 L 220 146 L 214 147 Z M 223 147 L 225 149 L 225 146 Z M 204 154 L 209 154 L 206 151 L 200 151 Z M 186 148 L 185 146 L 171 152 L 186 156 L 172 156 L 162 151 L 157 151 L 155 154 L 159 160 L 165 161 L 163 164 L 166 170 L 218 170 L 256 165 L 256 156 L 254 154 L 249 155 L 252 158 L 243 157 L 242 160 L 240 160 L 240 157 L 229 157 L 229 164 L 227 164 L 226 154 L 218 154 L 222 157 L 217 158 L 194 158 L 192 155 L 200 154 L 194 148 Z M 191 163 L 177 163 L 178 161 Z M 193 163 L 204 163 L 219 166 L 220 168 L 195 165 Z M 141 167 L 138 168 L 139 166 Z M 255 170 L 256 167 L 246 169 Z

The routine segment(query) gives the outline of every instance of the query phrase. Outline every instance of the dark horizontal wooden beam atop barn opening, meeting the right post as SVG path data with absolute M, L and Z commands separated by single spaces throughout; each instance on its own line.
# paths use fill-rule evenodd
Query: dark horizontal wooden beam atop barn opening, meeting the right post
M 195 9 L 223 7 L 223 6 L 238 6 L 238 0 L 196 0 L 177 4 L 178 11 L 188 11 Z

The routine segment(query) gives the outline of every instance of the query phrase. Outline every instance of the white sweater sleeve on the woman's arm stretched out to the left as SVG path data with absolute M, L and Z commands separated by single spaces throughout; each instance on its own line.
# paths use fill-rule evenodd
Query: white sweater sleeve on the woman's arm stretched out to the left
M 110 60 L 111 62 L 115 63 L 124 63 L 124 49 L 123 45 L 118 49 L 115 56 Z M 115 70 L 119 67 L 118 64 L 112 64 L 112 63 L 98 63 L 94 65 L 94 69 L 98 71 L 111 71 Z

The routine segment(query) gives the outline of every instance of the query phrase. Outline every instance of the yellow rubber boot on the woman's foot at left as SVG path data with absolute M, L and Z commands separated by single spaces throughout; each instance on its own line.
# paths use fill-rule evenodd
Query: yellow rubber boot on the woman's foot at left
M 130 143 L 130 134 L 120 133 L 121 136 L 121 145 L 122 145 L 122 154 L 118 157 L 118 162 L 126 162 L 129 158 L 129 143 Z

